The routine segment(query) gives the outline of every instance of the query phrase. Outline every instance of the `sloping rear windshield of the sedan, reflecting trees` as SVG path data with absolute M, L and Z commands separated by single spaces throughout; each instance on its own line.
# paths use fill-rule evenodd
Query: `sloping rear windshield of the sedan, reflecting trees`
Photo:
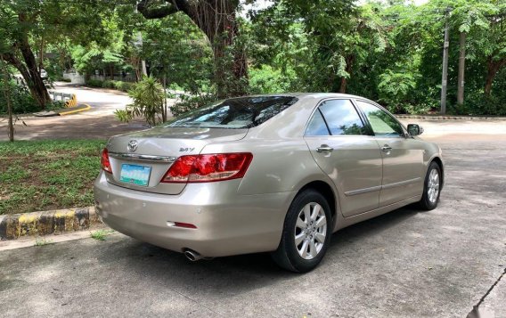
M 164 126 L 249 128 L 273 118 L 297 101 L 298 99 L 293 96 L 232 98 L 189 111 Z

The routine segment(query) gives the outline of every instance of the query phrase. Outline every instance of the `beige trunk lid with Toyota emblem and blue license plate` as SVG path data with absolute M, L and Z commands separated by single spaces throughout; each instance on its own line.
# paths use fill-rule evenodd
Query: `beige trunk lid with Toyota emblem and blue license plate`
M 143 192 L 178 194 L 186 183 L 160 183 L 175 159 L 200 154 L 209 143 L 244 138 L 247 128 L 156 127 L 112 137 L 109 183 Z

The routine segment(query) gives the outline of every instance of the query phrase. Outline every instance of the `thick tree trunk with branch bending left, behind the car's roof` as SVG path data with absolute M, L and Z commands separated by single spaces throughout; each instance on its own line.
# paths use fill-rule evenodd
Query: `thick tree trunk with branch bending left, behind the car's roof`
M 142 0 L 137 4 L 146 19 L 184 12 L 202 30 L 213 49 L 219 97 L 244 94 L 248 82 L 246 56 L 238 41 L 238 7 L 239 0 Z

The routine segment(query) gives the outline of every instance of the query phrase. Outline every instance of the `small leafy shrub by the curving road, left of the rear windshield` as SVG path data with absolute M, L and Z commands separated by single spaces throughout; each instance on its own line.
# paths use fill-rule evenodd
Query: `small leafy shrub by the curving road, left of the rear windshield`
M 126 105 L 125 110 L 115 111 L 120 121 L 128 122 L 135 117 L 142 117 L 151 126 L 156 126 L 163 121 L 165 94 L 154 77 L 144 77 L 133 90 L 128 92 L 128 95 L 134 102 Z

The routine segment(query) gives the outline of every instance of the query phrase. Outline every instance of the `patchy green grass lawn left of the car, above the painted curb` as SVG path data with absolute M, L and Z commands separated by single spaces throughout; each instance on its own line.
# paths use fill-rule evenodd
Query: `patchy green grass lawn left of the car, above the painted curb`
M 105 141 L 0 143 L 0 215 L 94 204 Z

